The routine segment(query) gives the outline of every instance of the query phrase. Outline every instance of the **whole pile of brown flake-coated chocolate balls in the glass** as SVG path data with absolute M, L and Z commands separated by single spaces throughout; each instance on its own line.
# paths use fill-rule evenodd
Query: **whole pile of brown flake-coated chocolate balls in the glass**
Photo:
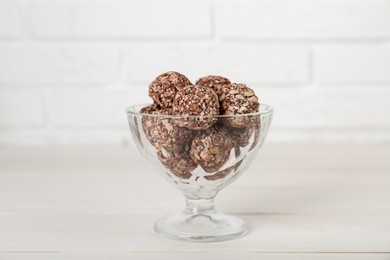
M 161 163 L 181 179 L 191 178 L 198 166 L 209 173 L 207 180 L 223 178 L 238 167 L 221 170 L 231 151 L 238 156 L 240 147 L 258 142 L 260 116 L 234 116 L 259 111 L 257 96 L 245 84 L 221 76 L 192 84 L 169 71 L 150 83 L 149 96 L 153 104 L 140 110 L 145 135 Z

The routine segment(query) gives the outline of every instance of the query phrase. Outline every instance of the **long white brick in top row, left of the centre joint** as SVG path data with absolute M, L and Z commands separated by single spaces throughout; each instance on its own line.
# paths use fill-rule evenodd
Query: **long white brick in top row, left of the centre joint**
M 31 16 L 32 34 L 40 37 L 193 38 L 211 32 L 210 4 L 197 0 L 34 0 Z

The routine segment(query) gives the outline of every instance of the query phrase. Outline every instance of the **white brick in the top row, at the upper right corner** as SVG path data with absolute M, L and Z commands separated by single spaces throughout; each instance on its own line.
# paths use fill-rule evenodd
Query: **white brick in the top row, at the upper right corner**
M 226 38 L 370 39 L 390 37 L 388 0 L 218 0 Z

